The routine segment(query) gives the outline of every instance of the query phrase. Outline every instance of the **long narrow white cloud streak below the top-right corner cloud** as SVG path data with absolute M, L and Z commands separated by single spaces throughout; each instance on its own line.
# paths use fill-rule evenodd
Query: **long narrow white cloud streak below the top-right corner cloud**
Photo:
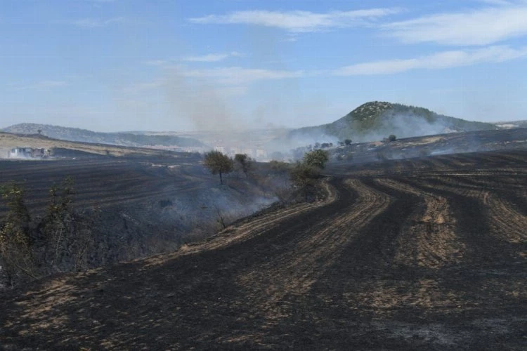
M 410 69 L 445 69 L 486 62 L 504 62 L 524 57 L 527 57 L 527 47 L 514 49 L 509 46 L 489 46 L 471 51 L 443 51 L 404 60 L 359 63 L 335 69 L 331 73 L 337 76 L 393 74 Z

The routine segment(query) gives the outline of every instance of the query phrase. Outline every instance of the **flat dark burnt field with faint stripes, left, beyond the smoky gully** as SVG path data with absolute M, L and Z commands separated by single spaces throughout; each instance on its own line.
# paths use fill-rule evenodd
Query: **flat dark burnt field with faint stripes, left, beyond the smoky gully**
M 14 181 L 27 192 L 27 205 L 42 211 L 51 185 L 70 176 L 78 207 L 132 206 L 210 186 L 195 158 L 86 157 L 45 161 L 0 160 L 0 183 Z M 3 210 L 5 208 L 2 208 Z

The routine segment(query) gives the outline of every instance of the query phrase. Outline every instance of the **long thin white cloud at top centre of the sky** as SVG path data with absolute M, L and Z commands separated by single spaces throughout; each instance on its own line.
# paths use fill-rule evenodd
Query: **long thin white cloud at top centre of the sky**
M 312 13 L 308 11 L 237 11 L 228 15 L 207 15 L 200 18 L 190 18 L 190 22 L 200 24 L 261 25 L 285 29 L 289 32 L 315 32 L 333 27 L 359 25 L 398 12 L 397 9 L 391 8 L 332 11 L 328 13 Z

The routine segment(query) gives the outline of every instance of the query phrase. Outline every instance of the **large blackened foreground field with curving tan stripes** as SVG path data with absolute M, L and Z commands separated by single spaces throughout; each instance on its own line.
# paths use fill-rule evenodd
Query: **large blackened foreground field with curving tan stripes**
M 325 201 L 2 293 L 7 350 L 525 350 L 527 150 L 327 169 Z

